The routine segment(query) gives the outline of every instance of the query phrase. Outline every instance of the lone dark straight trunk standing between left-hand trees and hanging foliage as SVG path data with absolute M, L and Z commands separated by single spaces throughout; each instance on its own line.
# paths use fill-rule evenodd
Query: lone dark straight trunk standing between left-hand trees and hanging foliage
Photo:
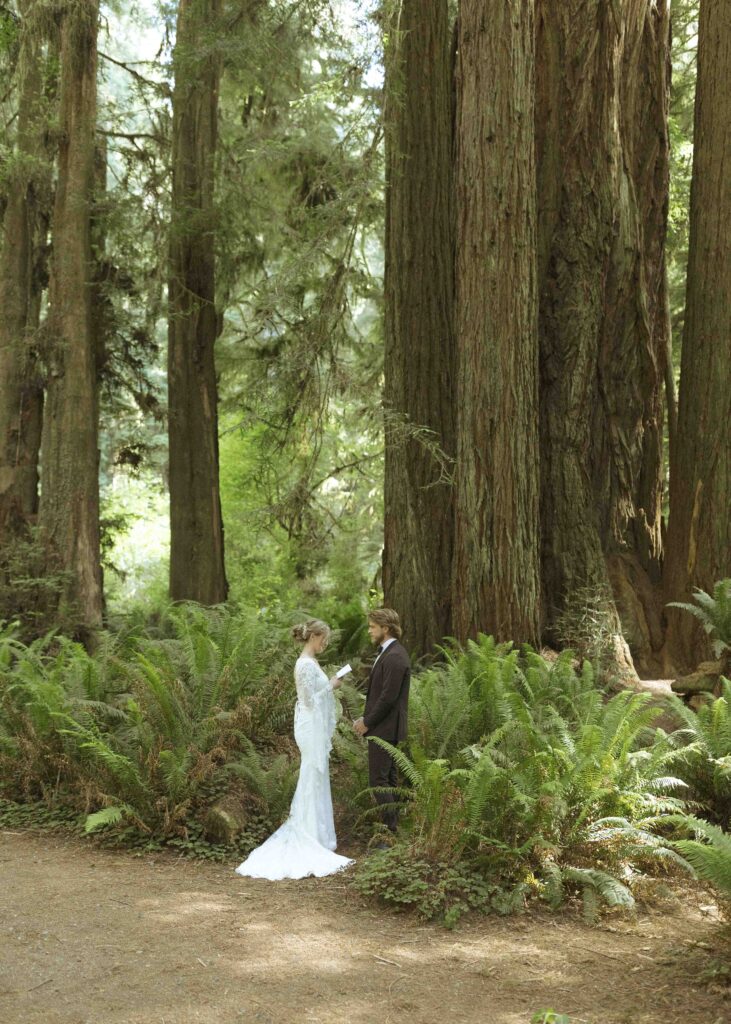
M 216 604 L 226 598 L 218 488 L 214 347 L 215 215 L 220 0 L 180 0 L 173 97 L 168 403 L 170 595 Z

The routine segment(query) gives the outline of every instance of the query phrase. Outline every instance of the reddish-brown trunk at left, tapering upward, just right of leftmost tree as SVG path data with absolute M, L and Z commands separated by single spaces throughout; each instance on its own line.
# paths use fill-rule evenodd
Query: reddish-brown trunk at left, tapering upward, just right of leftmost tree
M 49 566 L 64 574 L 59 621 L 101 622 L 98 393 L 91 323 L 98 0 L 60 11 L 59 154 L 49 286 L 49 353 L 39 521 Z

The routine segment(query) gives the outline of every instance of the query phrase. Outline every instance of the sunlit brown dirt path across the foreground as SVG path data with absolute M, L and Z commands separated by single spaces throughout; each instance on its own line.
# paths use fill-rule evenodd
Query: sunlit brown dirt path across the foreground
M 377 913 L 342 878 L 254 882 L 35 833 L 0 833 L 0 869 L 3 1024 L 731 1019 L 689 945 L 715 925 L 680 903 L 601 929 L 541 914 L 447 932 Z

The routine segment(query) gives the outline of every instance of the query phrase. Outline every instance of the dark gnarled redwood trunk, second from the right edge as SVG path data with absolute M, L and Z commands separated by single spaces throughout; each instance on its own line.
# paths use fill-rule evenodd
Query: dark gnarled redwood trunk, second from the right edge
M 624 7 L 617 228 L 600 340 L 606 413 L 593 454 L 609 578 L 635 665 L 654 674 L 661 625 L 662 428 L 673 429 L 665 232 L 670 140 L 670 4 Z M 628 202 L 624 201 L 628 197 Z M 628 258 L 629 257 L 629 258 Z M 669 365 L 669 360 L 670 365 Z M 605 466 L 611 467 L 607 474 Z

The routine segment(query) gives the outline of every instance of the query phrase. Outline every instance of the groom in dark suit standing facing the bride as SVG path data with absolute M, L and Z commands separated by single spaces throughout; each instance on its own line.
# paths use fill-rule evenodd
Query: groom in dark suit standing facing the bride
M 365 710 L 362 718 L 353 723 L 359 736 L 380 736 L 394 746 L 406 736 L 408 684 L 412 666 L 408 654 L 398 642 L 401 626 L 392 608 L 377 608 L 368 616 L 368 631 L 379 652 L 371 669 Z M 397 785 L 396 765 L 393 758 L 378 743 L 368 744 L 369 784 L 380 790 Z M 395 795 L 377 793 L 379 804 L 391 804 Z M 381 816 L 391 831 L 396 830 L 398 819 L 394 807 L 383 807 Z

